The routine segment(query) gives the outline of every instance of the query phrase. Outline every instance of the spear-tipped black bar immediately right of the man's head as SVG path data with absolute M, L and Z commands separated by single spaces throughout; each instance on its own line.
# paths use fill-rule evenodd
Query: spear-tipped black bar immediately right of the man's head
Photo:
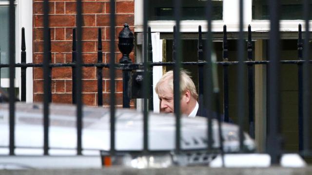
M 201 26 L 198 26 L 198 43 L 197 43 L 197 61 L 203 61 L 203 41 L 202 41 L 202 32 L 201 32 Z M 203 65 L 198 66 L 198 115 L 203 115 L 204 110 L 204 81 L 203 81 Z

